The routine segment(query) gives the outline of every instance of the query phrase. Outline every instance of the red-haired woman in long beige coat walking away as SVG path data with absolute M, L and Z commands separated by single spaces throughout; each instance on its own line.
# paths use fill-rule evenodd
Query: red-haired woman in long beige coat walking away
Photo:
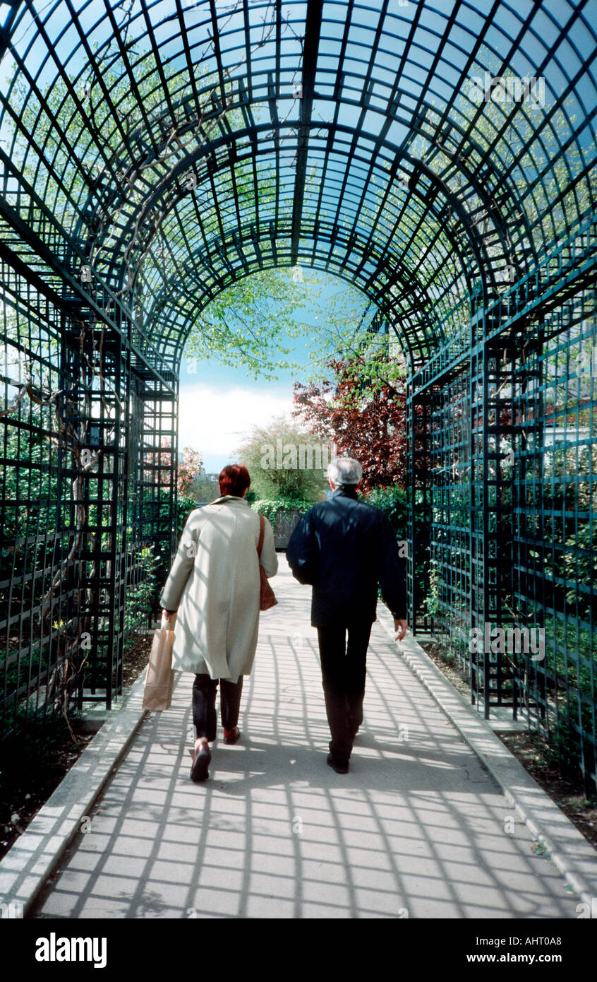
M 260 572 L 277 573 L 274 531 L 246 501 L 251 478 L 242 464 L 220 474 L 221 497 L 187 518 L 161 603 L 174 612 L 173 669 L 194 672 L 195 749 L 191 779 L 205 781 L 216 739 L 216 690 L 220 683 L 224 742 L 240 737 L 242 677 L 250 675 L 259 630 Z

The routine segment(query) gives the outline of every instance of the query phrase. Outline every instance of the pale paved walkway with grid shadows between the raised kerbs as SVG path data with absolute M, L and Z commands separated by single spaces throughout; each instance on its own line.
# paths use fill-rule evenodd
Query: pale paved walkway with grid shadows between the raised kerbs
M 236 746 L 189 780 L 193 677 L 147 718 L 37 917 L 574 918 L 578 898 L 387 633 L 348 775 L 326 766 L 311 591 L 280 556 Z

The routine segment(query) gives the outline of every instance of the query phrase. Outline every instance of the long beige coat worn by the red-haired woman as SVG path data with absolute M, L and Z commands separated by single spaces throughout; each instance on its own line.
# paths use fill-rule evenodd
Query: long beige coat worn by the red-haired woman
M 253 667 L 259 630 L 260 519 L 232 495 L 187 518 L 161 603 L 176 611 L 173 669 L 237 682 Z M 277 573 L 274 531 L 265 519 L 261 566 Z

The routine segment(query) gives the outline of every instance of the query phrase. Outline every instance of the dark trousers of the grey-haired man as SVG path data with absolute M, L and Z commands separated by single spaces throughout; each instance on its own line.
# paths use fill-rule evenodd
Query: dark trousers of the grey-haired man
M 325 712 L 331 734 L 329 750 L 340 764 L 348 763 L 354 736 L 363 723 L 371 632 L 371 624 L 318 627 Z

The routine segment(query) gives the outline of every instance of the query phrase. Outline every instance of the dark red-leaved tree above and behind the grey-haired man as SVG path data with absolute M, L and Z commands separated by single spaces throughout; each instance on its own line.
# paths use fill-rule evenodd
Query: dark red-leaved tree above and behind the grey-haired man
M 388 355 L 331 359 L 320 385 L 294 383 L 294 415 L 310 433 L 335 443 L 338 457 L 363 466 L 363 491 L 406 482 L 405 394 Z M 368 383 L 364 382 L 368 379 Z M 373 384 L 372 384 L 373 380 Z

